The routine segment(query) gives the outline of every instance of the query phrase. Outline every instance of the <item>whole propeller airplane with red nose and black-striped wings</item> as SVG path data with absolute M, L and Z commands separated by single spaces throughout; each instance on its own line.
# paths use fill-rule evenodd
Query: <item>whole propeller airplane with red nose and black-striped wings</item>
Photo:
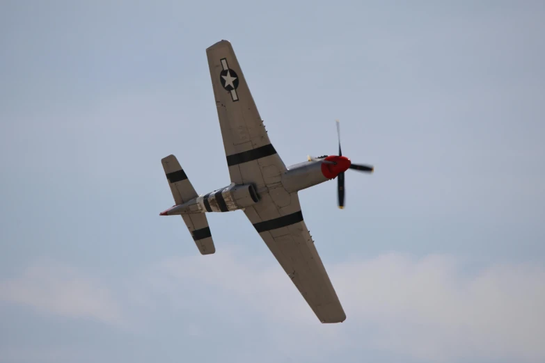
M 244 211 L 321 323 L 346 314 L 303 220 L 298 192 L 337 178 L 345 206 L 345 171 L 373 172 L 342 155 L 308 156 L 286 167 L 269 140 L 235 51 L 228 40 L 206 49 L 231 183 L 198 195 L 174 155 L 161 159 L 175 205 L 160 216 L 182 216 L 202 255 L 216 252 L 206 213 Z

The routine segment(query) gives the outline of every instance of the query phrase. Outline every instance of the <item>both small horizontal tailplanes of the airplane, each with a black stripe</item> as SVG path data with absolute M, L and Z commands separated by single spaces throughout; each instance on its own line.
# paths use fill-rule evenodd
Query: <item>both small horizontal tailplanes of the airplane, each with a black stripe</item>
M 195 188 L 191 185 L 191 181 L 187 178 L 176 156 L 168 155 L 161 159 L 161 163 L 165 170 L 168 186 L 171 187 L 175 204 L 189 202 L 189 200 L 198 197 Z M 205 213 L 182 215 L 182 219 L 202 255 L 210 255 L 216 252 Z

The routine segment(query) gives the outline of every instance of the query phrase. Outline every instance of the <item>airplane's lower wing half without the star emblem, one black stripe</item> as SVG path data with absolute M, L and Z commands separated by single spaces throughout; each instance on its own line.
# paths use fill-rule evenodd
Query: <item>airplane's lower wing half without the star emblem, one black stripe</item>
M 303 220 L 297 193 L 287 195 L 284 204 L 279 207 L 271 194 L 265 193 L 244 213 L 319 321 L 345 321 L 345 311 Z

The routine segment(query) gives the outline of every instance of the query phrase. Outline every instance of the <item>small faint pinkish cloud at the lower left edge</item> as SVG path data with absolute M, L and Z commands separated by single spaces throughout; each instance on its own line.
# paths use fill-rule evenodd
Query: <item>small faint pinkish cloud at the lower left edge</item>
M 0 301 L 41 313 L 121 323 L 120 310 L 108 289 L 50 259 L 35 261 L 18 277 L 1 280 Z

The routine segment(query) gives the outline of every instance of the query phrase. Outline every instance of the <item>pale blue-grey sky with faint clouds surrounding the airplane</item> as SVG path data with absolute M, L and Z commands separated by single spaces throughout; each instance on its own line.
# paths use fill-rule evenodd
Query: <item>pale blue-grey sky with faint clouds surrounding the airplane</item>
M 542 1 L 3 1 L 0 362 L 544 362 Z M 205 49 L 228 39 L 347 321 L 244 213 L 201 256 L 160 159 L 229 183 Z

